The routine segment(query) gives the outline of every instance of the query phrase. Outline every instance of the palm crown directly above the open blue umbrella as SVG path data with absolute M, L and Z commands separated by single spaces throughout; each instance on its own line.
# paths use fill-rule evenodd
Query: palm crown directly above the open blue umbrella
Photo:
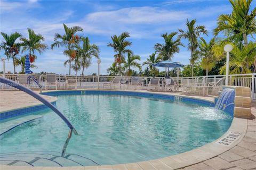
M 173 54 L 180 52 L 180 47 L 185 47 L 181 41 L 180 37 L 177 39 L 174 39 L 175 36 L 178 35 L 178 32 L 171 32 L 169 35 L 166 33 L 162 34 L 162 37 L 164 38 L 164 44 L 157 43 L 154 46 L 154 49 L 156 50 L 159 55 L 161 55 L 163 58 L 162 60 L 171 60 L 173 57 Z

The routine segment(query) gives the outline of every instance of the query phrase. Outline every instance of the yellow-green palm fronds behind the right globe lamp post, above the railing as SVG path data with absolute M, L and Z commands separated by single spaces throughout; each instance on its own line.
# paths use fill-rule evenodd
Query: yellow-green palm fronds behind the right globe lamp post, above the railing
M 256 58 L 256 43 L 249 43 L 247 46 L 243 46 L 242 49 L 234 44 L 231 45 L 233 45 L 233 50 L 230 52 L 230 74 L 252 73 L 249 68 L 254 64 Z M 220 74 L 225 73 L 226 63 L 220 69 Z

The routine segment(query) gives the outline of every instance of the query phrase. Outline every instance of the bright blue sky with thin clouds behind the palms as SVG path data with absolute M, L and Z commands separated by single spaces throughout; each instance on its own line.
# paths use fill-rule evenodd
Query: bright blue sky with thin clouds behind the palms
M 106 74 L 107 68 L 113 63 L 115 54 L 107 43 L 111 36 L 123 31 L 130 32 L 134 54 L 141 56 L 141 62 L 146 61 L 149 54 L 154 52 L 154 44 L 163 43 L 161 34 L 185 28 L 187 18 L 196 19 L 197 24 L 205 25 L 212 38 L 219 14 L 231 12 L 227 0 L 173 0 L 173 1 L 5 1 L 1 0 L 2 32 L 18 31 L 27 37 L 27 28 L 34 29 L 45 37 L 49 45 L 42 55 L 38 55 L 34 72 L 55 72 L 66 74 L 68 67 L 63 66 L 67 57 L 62 54 L 63 48 L 55 48 L 53 43 L 56 32 L 63 35 L 63 25 L 79 25 L 84 31 L 79 33 L 88 36 L 91 43 L 100 47 L 101 73 Z M 255 4 L 254 4 L 255 6 Z M 3 38 L 1 37 L 1 41 Z M 186 40 L 182 42 L 187 45 Z M 4 57 L 3 53 L 0 53 Z M 189 51 L 181 47 L 180 53 L 175 54 L 173 61 L 189 63 Z M 20 71 L 20 68 L 17 69 Z M 93 60 L 85 74 L 97 72 L 97 61 Z M 2 71 L 2 64 L 1 64 Z M 12 62 L 6 62 L 6 71 L 12 71 Z M 74 74 L 74 71 L 72 72 Z M 80 74 L 80 73 L 78 73 Z

